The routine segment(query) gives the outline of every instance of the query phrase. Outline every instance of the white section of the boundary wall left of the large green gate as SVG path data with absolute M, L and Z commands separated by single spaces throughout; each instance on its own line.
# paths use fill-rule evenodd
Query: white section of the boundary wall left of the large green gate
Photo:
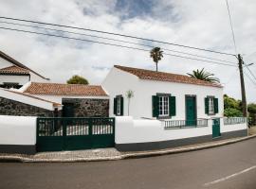
M 0 115 L 0 145 L 35 145 L 36 117 Z

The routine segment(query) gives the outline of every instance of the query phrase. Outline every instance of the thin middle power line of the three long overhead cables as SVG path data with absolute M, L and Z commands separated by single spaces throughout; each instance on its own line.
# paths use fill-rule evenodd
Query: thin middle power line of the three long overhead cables
M 33 27 L 33 28 L 39 28 L 39 29 L 46 29 L 46 30 L 50 30 L 50 31 L 58 31 L 58 32 L 82 35 L 82 36 L 87 36 L 87 37 L 99 38 L 99 39 L 104 39 L 104 40 L 111 40 L 111 41 L 120 42 L 120 43 L 131 43 L 131 44 L 137 44 L 137 45 L 140 45 L 140 46 L 145 46 L 145 47 L 150 47 L 150 48 L 155 47 L 155 46 L 148 45 L 148 44 L 133 43 L 133 42 L 129 42 L 129 41 L 117 40 L 117 39 L 113 39 L 113 38 L 106 38 L 106 37 L 101 37 L 101 36 L 97 36 L 97 35 L 90 35 L 90 34 L 84 34 L 84 33 L 72 32 L 72 31 L 65 31 L 65 30 L 61 30 L 61 29 L 52 29 L 52 28 L 43 27 L 43 26 L 31 26 L 31 25 L 3 22 L 3 21 L 0 21 L 0 23 L 14 25 L 14 26 L 27 26 L 27 27 Z M 208 60 L 218 60 L 218 61 L 225 61 L 225 62 L 229 62 L 229 63 L 234 63 L 234 62 L 229 61 L 229 60 L 214 59 L 214 58 L 210 58 L 210 57 L 206 57 L 206 56 L 195 55 L 195 54 L 192 54 L 192 53 L 182 52 L 182 51 L 168 49 L 168 48 L 162 48 L 161 47 L 161 49 L 165 50 L 165 51 L 180 53 L 180 54 L 184 54 L 184 55 L 190 55 L 190 56 L 194 56 L 194 57 L 198 57 L 198 58 L 204 58 L 204 59 L 208 59 Z

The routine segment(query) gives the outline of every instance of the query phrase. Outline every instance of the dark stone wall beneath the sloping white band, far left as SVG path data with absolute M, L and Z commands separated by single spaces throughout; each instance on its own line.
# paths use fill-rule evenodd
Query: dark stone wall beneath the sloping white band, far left
M 53 117 L 53 112 L 22 102 L 0 97 L 0 114 L 17 116 Z

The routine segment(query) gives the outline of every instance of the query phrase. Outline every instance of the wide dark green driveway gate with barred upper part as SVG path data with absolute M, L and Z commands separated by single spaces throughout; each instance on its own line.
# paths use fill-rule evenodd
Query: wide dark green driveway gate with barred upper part
M 37 118 L 37 151 L 115 146 L 115 118 Z

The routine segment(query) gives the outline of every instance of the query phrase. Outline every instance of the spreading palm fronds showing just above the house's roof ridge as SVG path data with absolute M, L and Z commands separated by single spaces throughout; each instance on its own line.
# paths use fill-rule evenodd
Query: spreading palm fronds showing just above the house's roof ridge
M 217 78 L 217 77 L 213 77 L 214 74 L 210 74 L 209 72 L 206 72 L 204 70 L 205 68 L 203 68 L 202 70 L 193 70 L 192 71 L 192 74 L 188 74 L 190 77 L 193 77 L 193 78 L 197 78 L 197 79 L 200 79 L 200 80 L 205 80 L 205 81 L 209 81 L 209 82 L 212 82 L 212 83 L 219 83 L 220 82 L 220 79 Z

